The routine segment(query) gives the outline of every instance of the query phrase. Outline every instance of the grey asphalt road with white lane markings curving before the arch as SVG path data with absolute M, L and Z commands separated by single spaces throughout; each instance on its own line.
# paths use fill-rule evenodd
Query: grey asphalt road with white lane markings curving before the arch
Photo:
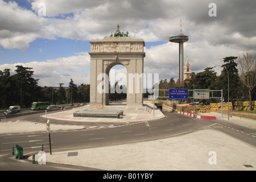
M 241 140 L 242 142 L 245 142 L 247 144 L 250 144 L 251 146 L 256 147 L 255 138 L 251 137 L 250 135 L 247 135 L 247 133 L 255 134 L 255 130 L 251 130 L 246 127 L 234 125 L 232 123 L 216 119 L 205 120 L 191 118 L 187 117 L 186 115 L 168 112 L 165 114 L 167 118 L 149 121 L 149 127 L 144 122 L 129 124 L 76 122 L 75 125 L 96 126 L 98 127 L 98 129 L 51 132 L 52 152 L 76 150 L 81 148 L 111 146 L 133 142 L 135 143 L 147 140 L 156 140 L 160 138 L 170 138 L 176 137 L 177 135 L 184 135 L 204 129 L 214 129 L 220 131 L 224 134 L 227 134 L 233 138 L 236 138 L 238 140 Z M 40 115 L 42 114 L 28 115 L 24 117 L 18 117 L 15 119 L 45 123 L 45 119 L 40 118 Z M 51 123 L 59 125 L 74 125 L 73 122 L 68 121 L 51 120 Z M 111 127 L 106 127 L 102 129 L 101 126 Z M 44 151 L 49 152 L 49 134 L 46 132 L 0 135 L 0 141 L 0 155 L 10 156 L 10 148 L 13 147 L 15 144 L 19 144 L 20 146 L 23 147 L 24 155 L 29 155 L 32 154 L 32 152 L 40 151 L 42 144 L 44 145 Z M 11 166 L 13 166 L 12 163 L 15 163 L 16 166 L 17 161 L 11 161 L 9 159 L 6 159 L 6 157 L 4 158 L 2 156 L 0 158 L 0 169 L 8 169 L 8 167 L 6 168 L 6 166 L 10 166 L 11 168 Z M 56 167 L 56 170 L 60 170 L 60 168 L 57 168 L 59 167 L 59 165 L 52 165 L 53 167 Z M 28 165 L 26 168 L 29 170 L 30 165 Z M 63 167 L 64 170 L 67 170 L 67 168 L 72 167 Z M 43 169 L 40 168 L 39 170 Z M 87 169 L 83 168 L 83 170 Z

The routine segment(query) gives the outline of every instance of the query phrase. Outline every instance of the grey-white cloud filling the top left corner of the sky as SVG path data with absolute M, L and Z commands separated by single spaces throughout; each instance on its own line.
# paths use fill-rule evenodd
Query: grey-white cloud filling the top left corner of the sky
M 29 43 L 38 37 L 45 37 L 42 31 L 47 20 L 36 16 L 32 11 L 19 7 L 16 2 L 0 1 L 0 45 L 6 49 L 18 48 L 25 51 Z

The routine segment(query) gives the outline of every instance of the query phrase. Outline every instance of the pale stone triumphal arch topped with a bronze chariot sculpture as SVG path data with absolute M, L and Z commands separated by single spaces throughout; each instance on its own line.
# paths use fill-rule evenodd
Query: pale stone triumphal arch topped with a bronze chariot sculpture
M 90 106 L 109 105 L 109 72 L 118 64 L 127 70 L 127 106 L 143 105 L 144 41 L 119 27 L 114 35 L 90 41 Z

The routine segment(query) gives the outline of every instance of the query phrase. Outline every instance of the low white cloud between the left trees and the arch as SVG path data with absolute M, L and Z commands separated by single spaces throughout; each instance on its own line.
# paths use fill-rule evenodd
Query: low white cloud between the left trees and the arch
M 15 66 L 33 68 L 34 78 L 40 79 L 40 86 L 51 86 L 54 83 L 69 84 L 70 79 L 80 85 L 82 83 L 89 84 L 88 67 L 90 66 L 90 57 L 88 52 L 80 52 L 79 55 L 70 57 L 60 57 L 55 60 L 47 61 L 31 61 L 28 63 L 15 63 L 0 65 L 0 70 L 11 69 L 11 74 L 15 74 Z

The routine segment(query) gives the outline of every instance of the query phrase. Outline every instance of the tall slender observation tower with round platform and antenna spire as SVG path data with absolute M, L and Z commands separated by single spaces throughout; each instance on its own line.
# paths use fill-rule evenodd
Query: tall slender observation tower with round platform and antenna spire
M 180 34 L 176 35 L 176 36 L 170 36 L 169 38 L 170 42 L 174 42 L 174 43 L 179 43 L 179 80 L 180 82 L 182 82 L 183 79 L 183 43 L 188 41 L 188 36 L 184 35 L 182 33 L 182 28 L 181 28 L 181 20 L 180 20 Z

